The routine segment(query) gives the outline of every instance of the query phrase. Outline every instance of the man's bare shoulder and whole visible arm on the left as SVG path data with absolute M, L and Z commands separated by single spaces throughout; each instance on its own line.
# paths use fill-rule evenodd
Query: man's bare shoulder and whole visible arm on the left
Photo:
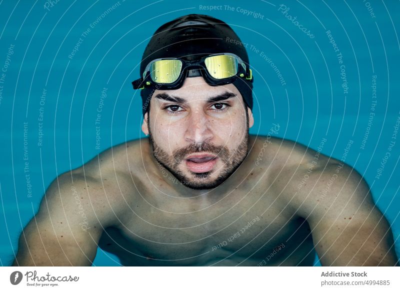
M 51 182 L 20 236 L 14 265 L 92 263 L 103 229 L 121 225 L 134 203 L 132 144 L 111 147 Z

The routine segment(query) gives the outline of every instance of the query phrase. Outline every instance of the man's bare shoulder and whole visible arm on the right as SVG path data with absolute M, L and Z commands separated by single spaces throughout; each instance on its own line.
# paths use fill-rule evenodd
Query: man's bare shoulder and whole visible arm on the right
M 306 219 L 322 265 L 396 265 L 390 225 L 368 184 L 344 158 L 321 153 L 325 139 L 312 149 L 263 138 L 254 144 L 269 148 L 258 157 L 260 166 L 270 167 L 268 184 L 282 208 Z

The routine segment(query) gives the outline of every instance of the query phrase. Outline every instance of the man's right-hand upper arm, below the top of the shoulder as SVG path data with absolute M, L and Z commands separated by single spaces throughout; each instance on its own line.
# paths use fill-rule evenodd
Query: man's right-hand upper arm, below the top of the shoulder
M 298 212 L 322 265 L 395 265 L 390 226 L 355 169 L 327 163 L 309 174 Z

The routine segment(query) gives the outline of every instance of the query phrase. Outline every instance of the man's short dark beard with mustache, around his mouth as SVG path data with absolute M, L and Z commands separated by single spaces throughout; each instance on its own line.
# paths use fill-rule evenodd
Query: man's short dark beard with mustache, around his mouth
M 202 142 L 188 144 L 184 147 L 175 149 L 171 154 L 168 154 L 165 150 L 160 148 L 156 142 L 154 142 L 149 127 L 150 126 L 148 126 L 149 141 L 153 149 L 154 158 L 181 184 L 191 189 L 203 190 L 217 187 L 239 167 L 244 158 L 247 156 L 249 139 L 248 122 L 247 130 L 243 139 L 241 140 L 240 144 L 231 151 L 229 151 L 226 146 L 215 145 L 210 142 Z M 211 174 L 214 170 L 202 173 L 190 172 L 190 175 L 187 176 L 179 169 L 179 164 L 184 161 L 185 156 L 204 151 L 214 154 L 222 162 L 221 170 L 215 178 L 211 177 Z

